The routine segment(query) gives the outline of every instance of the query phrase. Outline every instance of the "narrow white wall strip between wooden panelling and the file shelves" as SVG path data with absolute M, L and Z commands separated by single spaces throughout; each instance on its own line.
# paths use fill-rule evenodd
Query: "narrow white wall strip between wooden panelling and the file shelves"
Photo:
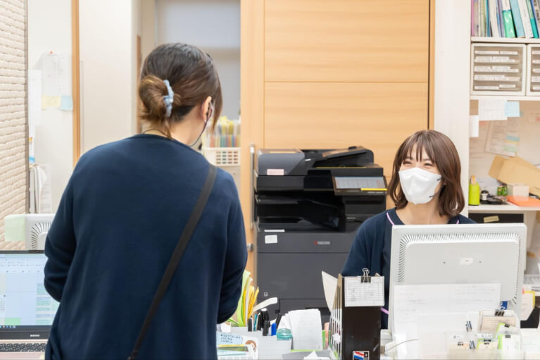
M 434 128 L 456 144 L 465 201 L 469 193 L 469 65 L 470 0 L 437 0 Z M 466 206 L 463 213 L 467 214 Z

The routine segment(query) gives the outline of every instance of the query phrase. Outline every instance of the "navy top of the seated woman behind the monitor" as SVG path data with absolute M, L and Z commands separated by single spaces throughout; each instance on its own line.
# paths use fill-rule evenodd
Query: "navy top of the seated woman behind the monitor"
M 451 218 L 448 224 L 470 224 L 474 221 L 463 215 Z M 362 275 L 362 269 L 368 268 L 370 275 L 384 276 L 384 309 L 388 310 L 390 294 L 390 254 L 392 225 L 404 225 L 398 217 L 396 209 L 390 209 L 369 218 L 360 225 L 349 257 L 341 275 Z M 381 326 L 388 328 L 388 316 L 381 312 Z

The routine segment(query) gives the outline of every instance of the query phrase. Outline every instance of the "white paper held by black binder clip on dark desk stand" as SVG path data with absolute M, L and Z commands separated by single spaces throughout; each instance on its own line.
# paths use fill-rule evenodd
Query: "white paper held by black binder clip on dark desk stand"
M 362 277 L 345 279 L 345 307 L 384 306 L 384 276 L 372 276 L 370 283 L 363 283 Z

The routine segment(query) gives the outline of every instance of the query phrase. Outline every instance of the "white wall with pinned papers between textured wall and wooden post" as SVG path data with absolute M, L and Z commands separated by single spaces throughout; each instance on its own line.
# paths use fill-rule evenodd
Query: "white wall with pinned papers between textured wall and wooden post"
M 39 69 L 48 51 L 71 55 L 71 1 L 28 0 L 28 68 Z M 71 57 L 66 73 L 71 84 Z M 53 209 L 56 211 L 73 171 L 73 113 L 58 109 L 41 111 L 35 124 L 36 163 L 50 164 Z

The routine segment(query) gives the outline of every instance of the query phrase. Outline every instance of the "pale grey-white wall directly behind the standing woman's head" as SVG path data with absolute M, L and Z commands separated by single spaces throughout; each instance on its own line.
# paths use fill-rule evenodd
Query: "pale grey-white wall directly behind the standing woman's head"
M 240 109 L 240 1 L 156 0 L 157 44 L 184 42 L 214 59 L 223 92 L 222 114 Z

